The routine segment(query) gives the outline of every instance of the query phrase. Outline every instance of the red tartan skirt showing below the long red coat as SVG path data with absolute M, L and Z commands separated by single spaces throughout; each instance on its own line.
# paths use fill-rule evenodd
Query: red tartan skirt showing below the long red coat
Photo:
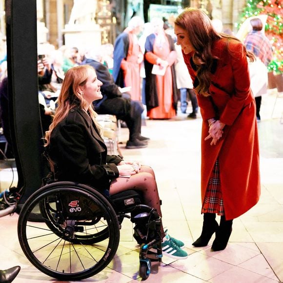
M 215 162 L 206 188 L 204 202 L 202 203 L 202 213 L 224 215 L 218 159 Z

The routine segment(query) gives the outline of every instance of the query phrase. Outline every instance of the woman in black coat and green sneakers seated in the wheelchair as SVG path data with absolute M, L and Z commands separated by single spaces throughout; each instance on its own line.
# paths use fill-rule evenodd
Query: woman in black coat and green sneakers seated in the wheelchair
M 55 176 L 59 181 L 89 184 L 101 193 L 109 190 L 110 196 L 135 189 L 142 193 L 144 204 L 155 208 L 162 217 L 152 168 L 107 155 L 93 109 L 93 101 L 102 98 L 101 86 L 102 82 L 90 65 L 67 71 L 58 109 L 45 136 L 48 156 L 57 168 Z M 165 235 L 163 228 L 161 233 L 163 255 L 187 258 L 187 253 L 180 247 L 183 246 L 181 241 Z

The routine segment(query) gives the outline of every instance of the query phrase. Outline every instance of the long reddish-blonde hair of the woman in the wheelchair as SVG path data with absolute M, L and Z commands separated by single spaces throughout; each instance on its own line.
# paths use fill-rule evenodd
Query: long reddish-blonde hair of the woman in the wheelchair
M 45 146 L 50 143 L 50 135 L 54 128 L 68 115 L 72 108 L 79 106 L 81 109 L 85 109 L 87 104 L 83 98 L 81 86 L 86 84 L 88 69 L 94 70 L 90 65 L 81 65 L 73 67 L 66 72 L 58 98 L 58 108 L 56 109 L 49 131 L 46 131 L 45 133 Z M 92 104 L 88 107 L 87 112 L 97 125 L 97 122 L 95 121 L 97 113 L 94 111 Z M 97 126 L 101 130 L 101 127 L 99 125 Z

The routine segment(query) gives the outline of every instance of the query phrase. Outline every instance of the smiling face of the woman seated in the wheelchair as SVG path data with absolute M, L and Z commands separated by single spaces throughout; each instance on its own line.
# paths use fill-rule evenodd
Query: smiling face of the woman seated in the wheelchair
M 81 87 L 83 91 L 83 98 L 89 105 L 98 99 L 102 98 L 100 87 L 102 82 L 97 79 L 95 70 L 88 69 L 88 78 L 84 86 Z

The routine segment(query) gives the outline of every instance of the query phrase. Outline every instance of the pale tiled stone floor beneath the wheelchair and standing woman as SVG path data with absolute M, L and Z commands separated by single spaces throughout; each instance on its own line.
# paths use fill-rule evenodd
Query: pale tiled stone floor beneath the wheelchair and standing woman
M 140 160 L 155 169 L 163 201 L 163 223 L 170 235 L 182 240 L 186 260 L 163 257 L 153 264 L 147 282 L 177 283 L 276 283 L 283 282 L 283 100 L 276 93 L 263 97 L 259 123 L 262 195 L 259 203 L 234 220 L 225 250 L 211 252 L 210 245 L 195 248 L 191 243 L 202 228 L 200 214 L 200 133 L 201 119 L 186 115 L 170 121 L 146 121 L 142 134 L 151 138 L 149 146 L 126 150 L 127 129 L 121 129 L 121 151 L 125 159 Z M 188 113 L 189 113 L 188 108 Z M 199 115 L 199 114 L 198 114 Z M 6 168 L 4 168 L 6 167 Z M 1 163 L 0 190 L 9 187 L 11 168 Z M 17 184 L 17 176 L 14 180 Z M 56 280 L 38 271 L 23 255 L 17 237 L 18 215 L 0 218 L 0 269 L 20 265 L 14 283 L 47 283 Z M 133 241 L 132 224 L 122 223 L 121 242 L 112 262 L 96 276 L 83 282 L 128 283 L 138 276 L 139 247 Z

